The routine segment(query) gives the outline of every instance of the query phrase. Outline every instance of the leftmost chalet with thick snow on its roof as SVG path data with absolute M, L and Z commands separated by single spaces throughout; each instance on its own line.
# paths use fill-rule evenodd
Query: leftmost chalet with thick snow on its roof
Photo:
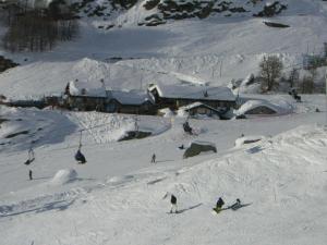
M 105 85 L 100 82 L 71 81 L 65 87 L 64 106 L 78 111 L 102 111 L 107 101 Z

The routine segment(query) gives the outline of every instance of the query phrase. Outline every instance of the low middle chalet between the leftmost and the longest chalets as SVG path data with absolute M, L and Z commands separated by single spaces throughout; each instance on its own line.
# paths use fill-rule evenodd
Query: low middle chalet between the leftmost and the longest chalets
M 131 114 L 156 114 L 154 99 L 147 93 L 140 90 L 107 91 L 106 112 L 131 113 Z

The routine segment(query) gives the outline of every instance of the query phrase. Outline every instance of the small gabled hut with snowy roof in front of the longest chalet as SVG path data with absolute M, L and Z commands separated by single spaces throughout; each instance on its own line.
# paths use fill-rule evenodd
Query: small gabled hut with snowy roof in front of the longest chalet
M 221 111 L 215 108 L 211 108 L 202 102 L 194 102 L 184 107 L 181 107 L 179 110 L 185 111 L 190 117 L 213 117 L 220 118 Z

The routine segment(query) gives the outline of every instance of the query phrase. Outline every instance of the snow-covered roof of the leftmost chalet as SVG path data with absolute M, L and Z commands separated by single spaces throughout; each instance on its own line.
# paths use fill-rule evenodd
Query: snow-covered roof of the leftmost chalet
M 72 96 L 107 97 L 106 88 L 100 82 L 69 82 L 69 89 Z

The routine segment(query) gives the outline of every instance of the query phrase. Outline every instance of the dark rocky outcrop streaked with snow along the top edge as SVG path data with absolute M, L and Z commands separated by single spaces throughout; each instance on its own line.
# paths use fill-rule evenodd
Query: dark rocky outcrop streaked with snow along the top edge
M 78 12 L 80 16 L 101 17 L 106 21 L 111 15 L 119 15 L 119 12 L 124 12 L 136 3 L 140 4 L 140 1 L 104 0 L 101 5 L 98 5 L 95 0 L 81 0 L 75 2 L 72 9 Z M 146 0 L 141 4 L 137 5 L 140 8 L 137 11 L 145 11 L 145 14 L 142 14 L 145 17 L 138 20 L 137 25 L 146 26 L 162 25 L 170 20 L 206 19 L 216 14 L 269 17 L 287 9 L 287 5 L 280 1 L 268 0 Z M 109 29 L 106 26 L 99 28 Z

